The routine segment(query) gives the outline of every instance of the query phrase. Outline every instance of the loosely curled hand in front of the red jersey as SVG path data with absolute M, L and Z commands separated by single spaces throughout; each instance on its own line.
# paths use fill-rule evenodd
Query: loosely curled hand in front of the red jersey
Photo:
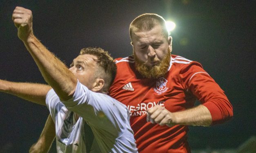
M 147 110 L 147 122 L 158 123 L 160 126 L 167 125 L 172 127 L 176 125 L 176 117 L 173 113 L 160 105 L 156 105 Z

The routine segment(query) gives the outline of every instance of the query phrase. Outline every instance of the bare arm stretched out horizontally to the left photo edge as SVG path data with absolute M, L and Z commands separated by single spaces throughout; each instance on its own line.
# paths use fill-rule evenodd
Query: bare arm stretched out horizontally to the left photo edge
M 49 85 L 38 83 L 17 83 L 11 81 L 0 80 L 0 92 L 18 96 L 27 101 L 45 104 L 47 92 L 51 89 Z

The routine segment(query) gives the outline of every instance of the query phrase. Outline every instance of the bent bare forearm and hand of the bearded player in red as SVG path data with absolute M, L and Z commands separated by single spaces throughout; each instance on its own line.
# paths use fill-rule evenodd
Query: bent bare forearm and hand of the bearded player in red
M 151 123 L 158 123 L 159 125 L 211 125 L 211 113 L 204 105 L 187 109 L 185 111 L 178 111 L 171 113 L 164 107 L 156 105 L 147 110 L 147 121 Z

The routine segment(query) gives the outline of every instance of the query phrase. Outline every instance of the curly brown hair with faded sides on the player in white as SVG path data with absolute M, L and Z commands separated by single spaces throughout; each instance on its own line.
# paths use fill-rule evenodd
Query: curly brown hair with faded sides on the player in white
M 116 63 L 114 62 L 114 59 L 110 56 L 109 52 L 102 48 L 82 48 L 79 55 L 84 54 L 94 55 L 97 57 L 94 61 L 98 63 L 98 70 L 96 70 L 94 77 L 104 79 L 105 85 L 103 86 L 103 91 L 108 91 L 116 77 Z

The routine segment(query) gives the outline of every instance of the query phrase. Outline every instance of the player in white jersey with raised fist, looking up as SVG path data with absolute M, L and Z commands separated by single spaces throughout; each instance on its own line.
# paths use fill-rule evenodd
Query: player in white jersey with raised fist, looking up
M 0 91 L 48 107 L 58 153 L 137 153 L 127 107 L 107 95 L 113 58 L 101 48 L 83 48 L 68 69 L 33 35 L 30 10 L 16 7 L 12 19 L 50 86 L 0 80 Z

